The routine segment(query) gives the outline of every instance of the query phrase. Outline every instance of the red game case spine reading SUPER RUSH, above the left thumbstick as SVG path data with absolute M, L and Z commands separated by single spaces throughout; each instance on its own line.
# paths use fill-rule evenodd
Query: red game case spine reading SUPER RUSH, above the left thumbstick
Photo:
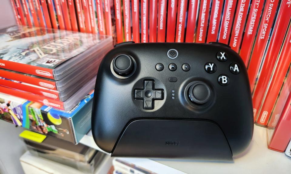
M 122 31 L 122 16 L 121 16 L 121 0 L 114 0 L 115 8 L 115 25 L 116 25 L 116 38 L 117 43 L 123 42 Z

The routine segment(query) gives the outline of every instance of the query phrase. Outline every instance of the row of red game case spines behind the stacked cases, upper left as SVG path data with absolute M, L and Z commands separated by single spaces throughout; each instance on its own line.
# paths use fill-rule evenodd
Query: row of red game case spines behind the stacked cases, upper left
M 10 0 L 18 25 L 112 35 L 113 2 L 104 0 Z M 52 2 L 54 1 L 54 2 Z M 98 18 L 98 28 L 95 18 Z M 111 10 L 112 9 L 112 10 Z M 30 15 L 31 14 L 31 15 Z M 57 18 L 56 18 L 57 16 Z M 106 29 L 105 29 L 106 28 Z

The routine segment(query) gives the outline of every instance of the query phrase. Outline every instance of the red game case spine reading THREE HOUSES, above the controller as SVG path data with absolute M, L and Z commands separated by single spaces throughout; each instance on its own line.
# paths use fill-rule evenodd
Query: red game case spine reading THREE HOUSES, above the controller
M 167 10 L 167 1 L 159 0 L 159 8 L 158 8 L 158 34 L 157 41 L 165 42 L 166 37 L 166 10 Z

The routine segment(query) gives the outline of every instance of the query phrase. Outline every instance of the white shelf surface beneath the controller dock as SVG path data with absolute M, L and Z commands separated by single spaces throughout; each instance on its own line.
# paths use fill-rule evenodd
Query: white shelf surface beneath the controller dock
M 100 150 L 96 146 L 92 133 L 85 135 L 80 141 L 89 147 Z M 102 151 L 102 150 L 101 150 Z M 134 163 L 143 168 L 152 169 L 153 172 L 162 174 L 169 173 L 173 168 L 185 173 L 291 173 L 291 158 L 284 153 L 269 150 L 267 147 L 266 128 L 255 126 L 253 139 L 248 149 L 234 157 L 232 163 L 209 162 L 209 161 L 185 161 L 171 159 L 142 159 L 142 158 L 122 158 L 130 163 Z M 162 165 L 159 165 L 162 164 Z M 151 167 L 154 166 L 154 167 Z M 166 166 L 170 167 L 166 170 Z M 156 170 L 156 171 L 155 171 Z M 166 172 L 162 172 L 165 170 Z M 174 172 L 177 173 L 177 172 Z

